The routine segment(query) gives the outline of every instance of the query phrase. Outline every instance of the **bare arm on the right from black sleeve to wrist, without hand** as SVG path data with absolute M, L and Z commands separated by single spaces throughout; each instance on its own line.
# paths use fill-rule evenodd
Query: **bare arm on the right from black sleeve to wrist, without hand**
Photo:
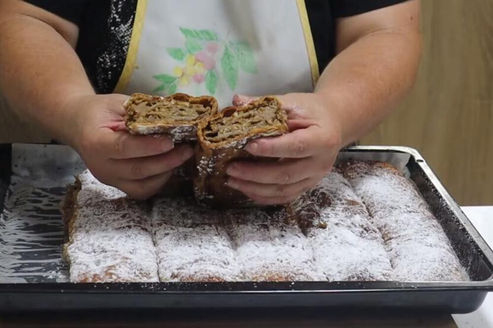
M 372 131 L 414 83 L 420 3 L 411 0 L 337 21 L 338 55 L 316 93 L 337 109 L 342 144 Z

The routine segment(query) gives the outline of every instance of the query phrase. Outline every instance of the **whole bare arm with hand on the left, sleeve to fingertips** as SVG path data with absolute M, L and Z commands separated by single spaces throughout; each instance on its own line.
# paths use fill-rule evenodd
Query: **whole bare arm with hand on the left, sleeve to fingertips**
M 77 34 L 38 7 L 0 1 L 0 90 L 21 117 L 72 146 L 99 180 L 131 197 L 152 196 L 193 150 L 123 131 L 128 97 L 95 94 L 73 50 Z

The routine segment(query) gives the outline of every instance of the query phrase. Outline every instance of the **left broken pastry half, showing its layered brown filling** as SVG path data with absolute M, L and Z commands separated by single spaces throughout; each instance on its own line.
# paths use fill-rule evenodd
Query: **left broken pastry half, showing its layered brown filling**
M 217 112 L 210 96 L 174 94 L 168 97 L 133 94 L 123 105 L 132 134 L 166 134 L 175 142 L 197 139 L 197 124 Z

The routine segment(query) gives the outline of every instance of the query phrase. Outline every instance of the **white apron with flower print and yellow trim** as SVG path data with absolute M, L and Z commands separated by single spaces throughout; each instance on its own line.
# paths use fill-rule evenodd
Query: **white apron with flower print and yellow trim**
M 139 0 L 116 93 L 310 92 L 318 65 L 304 0 Z

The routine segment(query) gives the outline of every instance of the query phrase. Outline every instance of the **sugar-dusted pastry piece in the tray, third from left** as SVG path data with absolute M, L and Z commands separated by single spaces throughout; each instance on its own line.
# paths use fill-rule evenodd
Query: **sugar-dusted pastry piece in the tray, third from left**
M 224 213 L 226 229 L 236 246 L 238 262 L 247 281 L 324 280 L 314 262 L 306 236 L 285 215 L 259 209 Z

